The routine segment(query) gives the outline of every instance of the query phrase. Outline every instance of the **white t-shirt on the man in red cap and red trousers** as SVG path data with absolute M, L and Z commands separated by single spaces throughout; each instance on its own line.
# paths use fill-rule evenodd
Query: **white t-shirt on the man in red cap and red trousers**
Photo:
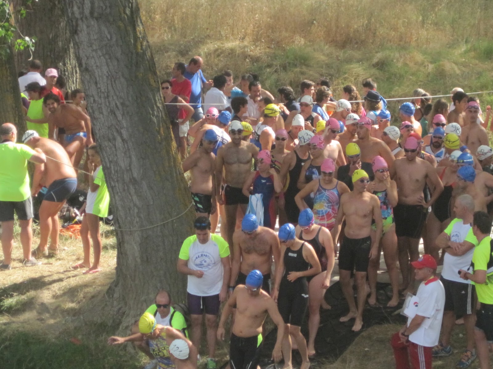
M 420 327 L 409 335 L 409 340 L 424 347 L 433 347 L 438 344 L 440 329 L 442 328 L 443 307 L 445 306 L 445 289 L 437 277 L 428 279 L 418 288 L 417 315 L 425 319 Z M 407 326 L 411 323 L 408 318 Z

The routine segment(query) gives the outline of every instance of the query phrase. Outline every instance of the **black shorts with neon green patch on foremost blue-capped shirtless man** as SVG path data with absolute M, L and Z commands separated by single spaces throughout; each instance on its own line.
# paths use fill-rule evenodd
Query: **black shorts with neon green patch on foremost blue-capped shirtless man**
M 229 341 L 229 366 L 231 369 L 256 369 L 262 351 L 262 335 L 238 337 L 231 333 Z

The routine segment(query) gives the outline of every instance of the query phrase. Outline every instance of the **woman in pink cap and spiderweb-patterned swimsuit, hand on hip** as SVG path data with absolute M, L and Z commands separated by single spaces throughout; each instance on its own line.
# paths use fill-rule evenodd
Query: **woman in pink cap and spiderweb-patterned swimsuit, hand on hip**
M 306 198 L 313 195 L 313 215 L 315 224 L 327 228 L 334 227 L 341 195 L 349 192 L 346 184 L 334 177 L 336 166 L 331 158 L 325 158 L 320 165 L 321 177 L 314 179 L 294 197 L 300 210 L 308 208 Z

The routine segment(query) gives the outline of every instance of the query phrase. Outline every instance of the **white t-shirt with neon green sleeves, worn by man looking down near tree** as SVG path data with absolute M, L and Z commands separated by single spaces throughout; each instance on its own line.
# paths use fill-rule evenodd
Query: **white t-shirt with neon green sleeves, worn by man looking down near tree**
M 205 244 L 201 244 L 196 235 L 188 237 L 181 246 L 178 258 L 188 260 L 188 268 L 200 270 L 204 276 L 188 276 L 187 292 L 196 296 L 219 294 L 223 277 L 221 258 L 226 256 L 229 256 L 229 246 L 221 236 L 211 234 Z

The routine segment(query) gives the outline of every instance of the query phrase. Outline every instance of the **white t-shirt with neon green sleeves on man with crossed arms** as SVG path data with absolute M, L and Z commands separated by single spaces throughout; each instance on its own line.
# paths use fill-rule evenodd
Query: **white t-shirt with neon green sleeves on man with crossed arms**
M 455 218 L 452 220 L 449 226 L 445 228 L 444 232 L 450 236 L 450 241 L 468 241 L 474 246 L 478 246 L 478 240 L 476 240 L 476 237 L 474 237 L 474 234 L 472 233 L 471 224 L 464 224 L 462 219 Z M 443 259 L 442 277 L 455 282 L 471 283 L 470 280 L 460 278 L 457 272 L 460 269 L 467 270 L 469 265 L 471 265 L 473 253 L 474 247 L 460 256 L 453 256 L 446 252 Z

